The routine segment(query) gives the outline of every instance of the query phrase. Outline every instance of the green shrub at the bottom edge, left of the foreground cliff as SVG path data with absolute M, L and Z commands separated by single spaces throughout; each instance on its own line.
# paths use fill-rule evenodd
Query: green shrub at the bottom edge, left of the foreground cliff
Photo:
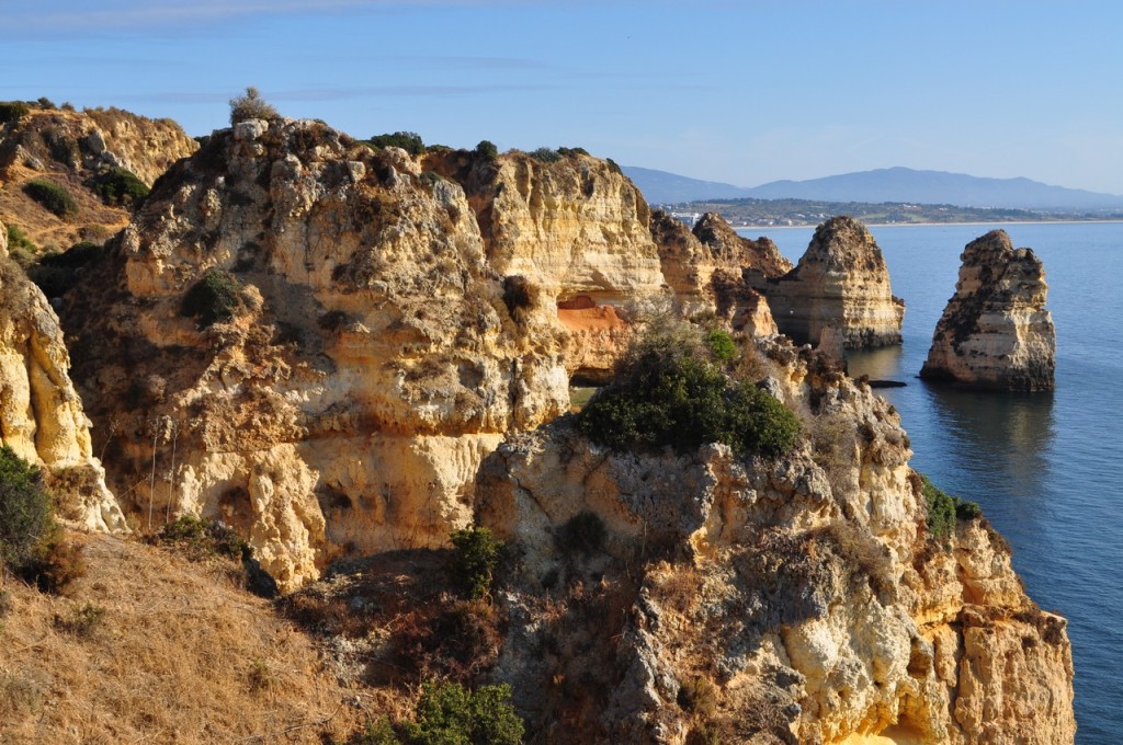
M 517 745 L 524 727 L 510 698 L 506 684 L 473 691 L 459 683 L 426 683 L 414 721 L 402 729 L 413 745 Z

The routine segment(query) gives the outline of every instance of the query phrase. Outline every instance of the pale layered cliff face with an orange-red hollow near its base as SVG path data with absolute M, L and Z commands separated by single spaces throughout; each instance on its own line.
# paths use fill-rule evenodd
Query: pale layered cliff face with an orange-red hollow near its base
M 438 151 L 426 165 L 464 187 L 521 316 L 568 332 L 570 376 L 605 380 L 637 322 L 670 303 L 647 203 L 612 164 L 567 149 L 553 160 Z

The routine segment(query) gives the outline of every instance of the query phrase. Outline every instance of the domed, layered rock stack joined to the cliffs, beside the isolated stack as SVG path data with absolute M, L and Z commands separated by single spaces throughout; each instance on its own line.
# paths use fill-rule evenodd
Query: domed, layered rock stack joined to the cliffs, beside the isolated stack
M 788 274 L 755 277 L 782 333 L 818 344 L 839 333 L 846 349 L 901 343 L 904 301 L 894 297 L 882 249 L 852 218 L 831 218 L 815 229 L 800 264 Z

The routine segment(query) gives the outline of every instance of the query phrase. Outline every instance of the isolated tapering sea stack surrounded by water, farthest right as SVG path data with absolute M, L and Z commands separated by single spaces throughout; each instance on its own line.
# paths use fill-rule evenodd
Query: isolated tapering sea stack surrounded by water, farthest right
M 1051 390 L 1056 331 L 1046 310 L 1044 267 L 1004 230 L 960 257 L 956 294 L 935 326 L 921 377 L 976 388 Z

